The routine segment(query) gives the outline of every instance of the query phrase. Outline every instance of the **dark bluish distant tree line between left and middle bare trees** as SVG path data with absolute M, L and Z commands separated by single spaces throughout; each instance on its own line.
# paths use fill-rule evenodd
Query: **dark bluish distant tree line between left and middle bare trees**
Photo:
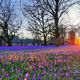
M 30 38 L 19 38 L 18 36 L 15 36 L 12 40 L 13 45 L 20 45 L 20 46 L 25 46 L 25 45 L 43 45 L 43 41 L 41 40 L 35 40 L 35 39 L 30 39 Z

